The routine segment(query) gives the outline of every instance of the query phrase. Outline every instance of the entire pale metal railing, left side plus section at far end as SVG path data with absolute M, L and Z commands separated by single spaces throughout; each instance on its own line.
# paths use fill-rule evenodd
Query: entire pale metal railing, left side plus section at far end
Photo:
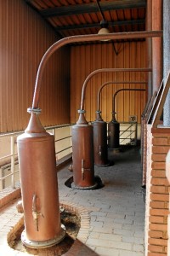
M 120 131 L 120 144 L 134 143 L 137 141 L 137 123 L 121 123 Z M 122 130 L 122 125 L 127 126 L 125 130 Z M 66 131 L 64 131 L 66 128 Z M 55 142 L 55 155 L 56 164 L 57 160 L 72 152 L 71 145 L 71 124 L 68 125 L 56 125 L 53 127 L 45 127 L 46 131 L 51 132 L 54 135 Z M 60 129 L 60 132 L 59 132 Z M 57 132 L 58 131 L 58 132 Z M 16 138 L 23 133 L 18 131 L 14 133 L 2 134 L 0 139 L 8 138 L 10 154 L 5 154 L 0 157 L 0 191 L 10 186 L 15 188 L 16 181 L 20 180 L 20 169 L 18 163 L 18 154 L 16 148 Z M 10 138 L 10 139 L 9 139 Z M 18 175 L 18 176 L 17 176 Z M 16 177 L 17 176 L 17 177 Z

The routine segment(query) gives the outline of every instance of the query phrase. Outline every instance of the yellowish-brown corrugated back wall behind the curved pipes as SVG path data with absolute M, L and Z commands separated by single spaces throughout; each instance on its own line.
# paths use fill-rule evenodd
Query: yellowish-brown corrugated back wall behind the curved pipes
M 82 84 L 88 77 L 88 74 L 96 69 L 105 67 L 145 67 L 145 42 L 71 46 L 71 122 L 77 121 L 77 109 L 80 108 L 79 100 L 74 100 L 74 91 L 76 90 L 77 94 L 81 95 Z M 147 84 L 123 83 L 123 81 L 129 80 L 145 81 L 145 73 L 121 72 L 96 74 L 93 79 L 90 79 L 87 85 L 85 110 L 88 121 L 95 119 L 99 87 L 109 80 L 119 81 L 122 84 L 110 84 L 102 90 L 101 110 L 102 117 L 105 121 L 111 120 L 112 96 L 116 90 L 121 88 L 144 88 L 147 90 Z M 77 99 L 81 98 L 77 94 Z M 138 123 L 140 124 L 140 117 L 144 110 L 146 97 L 146 92 L 120 92 L 116 96 L 116 119 L 121 122 L 128 121 L 130 115 L 137 115 Z

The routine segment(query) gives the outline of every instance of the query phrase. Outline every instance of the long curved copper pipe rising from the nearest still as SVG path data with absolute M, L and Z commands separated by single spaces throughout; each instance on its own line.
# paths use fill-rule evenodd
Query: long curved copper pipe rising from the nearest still
M 105 35 L 78 35 L 68 38 L 63 38 L 57 41 L 56 43 L 52 44 L 51 47 L 45 52 L 42 56 L 42 60 L 39 64 L 37 70 L 37 78 L 34 90 L 34 96 L 32 101 L 32 108 L 38 108 L 39 102 L 39 95 L 41 89 L 41 82 L 42 82 L 42 73 L 45 67 L 46 62 L 48 61 L 49 57 L 54 53 L 55 50 L 59 49 L 61 46 L 65 44 L 77 43 L 77 42 L 88 42 L 88 41 L 100 41 L 105 39 L 127 39 L 127 38 L 155 38 L 155 37 L 162 37 L 162 31 L 144 31 L 144 32 L 119 32 L 119 33 L 109 33 Z

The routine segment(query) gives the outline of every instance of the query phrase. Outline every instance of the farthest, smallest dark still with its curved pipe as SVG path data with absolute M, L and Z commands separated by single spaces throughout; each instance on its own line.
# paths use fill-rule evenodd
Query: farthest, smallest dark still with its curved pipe
M 131 84 L 144 84 L 144 82 L 130 82 Z M 120 132 L 120 124 L 116 121 L 116 111 L 115 111 L 115 99 L 117 93 L 122 90 L 145 90 L 145 89 L 120 89 L 117 90 L 116 93 L 113 95 L 113 106 L 112 106 L 112 119 L 111 122 L 108 124 L 108 148 L 109 149 L 119 149 L 119 132 Z

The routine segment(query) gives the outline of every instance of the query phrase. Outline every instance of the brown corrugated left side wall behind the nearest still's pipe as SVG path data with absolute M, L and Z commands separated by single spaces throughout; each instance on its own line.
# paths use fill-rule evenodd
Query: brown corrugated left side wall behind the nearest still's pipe
M 0 0 L 0 132 L 26 128 L 37 67 L 57 40 L 24 1 Z M 70 122 L 70 48 L 59 49 L 45 67 L 39 108 L 42 125 Z

